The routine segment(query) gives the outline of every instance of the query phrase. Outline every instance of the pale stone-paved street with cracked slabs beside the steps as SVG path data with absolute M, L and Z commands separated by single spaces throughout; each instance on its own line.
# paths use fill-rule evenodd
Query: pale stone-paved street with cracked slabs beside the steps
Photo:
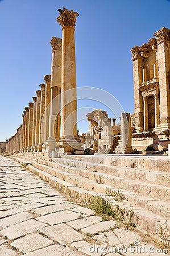
M 0 191 L 0 256 L 120 255 L 111 251 L 114 246 L 124 248 L 122 255 L 128 256 L 140 255 L 136 253 L 139 246 L 133 252 L 130 249 L 135 241 L 148 250 L 153 247 L 114 220 L 102 221 L 92 210 L 71 203 L 38 176 L 2 156 Z

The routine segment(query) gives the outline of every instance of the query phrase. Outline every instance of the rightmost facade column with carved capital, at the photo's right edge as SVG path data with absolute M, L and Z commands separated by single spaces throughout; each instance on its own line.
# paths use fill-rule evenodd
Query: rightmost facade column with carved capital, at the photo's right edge
M 160 124 L 158 129 L 170 129 L 170 95 L 169 95 L 169 70 L 170 70 L 170 30 L 162 27 L 154 33 L 157 42 L 157 63 L 159 69 L 160 91 Z

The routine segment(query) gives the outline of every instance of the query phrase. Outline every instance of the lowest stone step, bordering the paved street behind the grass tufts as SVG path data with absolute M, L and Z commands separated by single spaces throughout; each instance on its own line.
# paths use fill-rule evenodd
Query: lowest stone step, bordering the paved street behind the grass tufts
M 33 167 L 31 164 L 27 166 L 28 170 L 34 172 L 34 174 L 41 177 L 43 180 L 47 181 L 53 187 L 60 189 L 67 195 L 74 197 L 77 202 L 85 203 L 91 202 L 96 196 L 103 196 L 105 198 L 106 194 L 97 193 L 94 191 L 87 191 L 86 189 L 82 189 L 79 187 L 74 186 L 67 181 L 61 180 L 58 177 L 54 177 L 51 174 L 48 174 L 45 171 L 41 171 L 38 168 Z M 120 208 L 124 209 L 131 209 L 131 205 L 128 204 L 126 201 L 118 202 L 114 199 L 109 198 L 109 201 L 113 205 L 118 205 Z M 133 207 L 134 213 L 138 216 L 138 223 L 137 228 L 142 230 L 143 232 L 150 233 L 152 236 L 159 238 L 161 228 L 163 232 L 166 232 L 166 236 L 170 236 L 170 221 L 166 217 L 161 217 L 157 214 L 151 212 L 151 210 L 146 210 L 140 207 Z

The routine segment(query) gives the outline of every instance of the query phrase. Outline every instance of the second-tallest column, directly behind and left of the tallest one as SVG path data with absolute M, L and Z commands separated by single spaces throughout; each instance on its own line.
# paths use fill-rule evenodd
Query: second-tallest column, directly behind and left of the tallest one
M 52 153 L 60 139 L 60 108 L 61 108 L 61 38 L 52 37 L 51 60 L 51 102 L 49 115 L 49 137 L 45 142 L 46 151 Z

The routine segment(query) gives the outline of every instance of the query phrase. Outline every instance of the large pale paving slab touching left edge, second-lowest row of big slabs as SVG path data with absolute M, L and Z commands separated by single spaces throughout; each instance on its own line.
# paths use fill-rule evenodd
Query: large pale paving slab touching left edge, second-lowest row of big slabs
M 44 228 L 44 226 L 47 225 L 36 220 L 27 220 L 19 224 L 9 226 L 6 229 L 2 229 L 0 234 L 2 236 L 6 236 L 10 240 L 14 240 L 18 237 L 25 236 L 26 234 L 35 232 L 40 228 Z

